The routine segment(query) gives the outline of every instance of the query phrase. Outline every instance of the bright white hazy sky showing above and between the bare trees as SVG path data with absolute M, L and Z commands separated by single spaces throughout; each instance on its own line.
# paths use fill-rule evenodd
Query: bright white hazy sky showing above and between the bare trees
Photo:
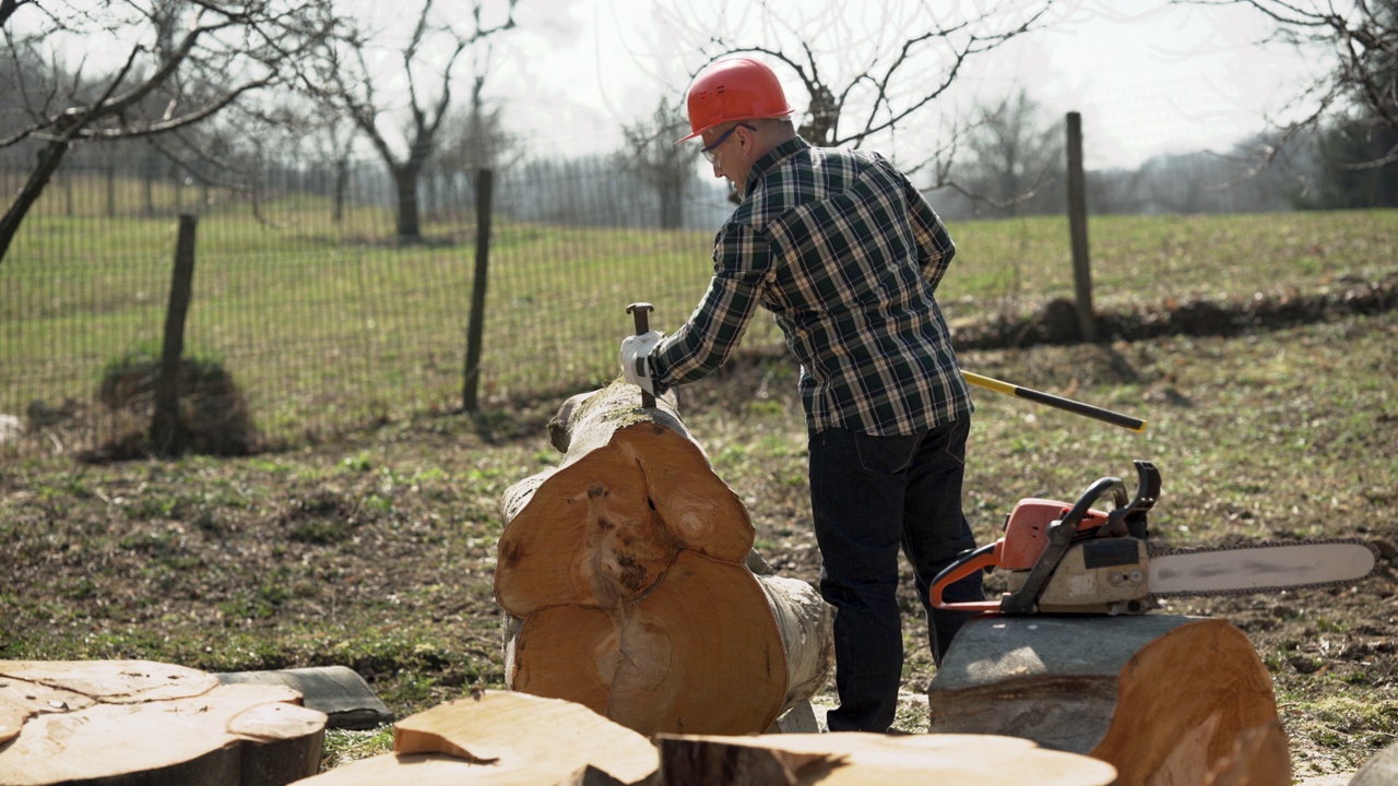
M 783 18 L 804 14 L 825 20 L 808 28 L 814 31 L 808 43 L 821 52 L 830 41 L 843 45 L 858 35 L 898 43 L 906 29 L 925 27 L 925 18 L 934 14 L 944 18 L 965 18 L 967 10 L 1001 14 L 1005 8 L 1039 7 L 1042 1 L 768 0 L 766 4 Z M 449 15 L 464 6 L 439 1 L 436 13 Z M 407 29 L 419 7 L 419 0 L 336 0 L 337 11 L 383 28 Z M 505 0 L 488 0 L 487 21 L 503 18 L 503 7 Z M 829 22 L 832 10 L 846 18 Z M 686 17 L 688 25 L 677 21 L 677 14 Z M 519 28 L 500 39 L 492 56 L 488 95 L 503 105 L 507 124 L 533 137 L 537 150 L 556 140 L 556 152 L 614 151 L 621 144 L 621 126 L 649 117 L 661 97 L 682 103 L 689 74 L 706 60 L 699 41 L 727 29 L 744 41 L 777 46 L 772 17 L 754 0 L 519 0 Z M 25 17 L 17 17 L 15 24 L 25 24 Z M 939 138 L 977 103 L 995 103 L 1023 88 L 1040 105 L 1046 122 L 1061 122 L 1069 110 L 1082 113 L 1089 168 L 1135 166 L 1162 152 L 1202 148 L 1223 152 L 1239 138 L 1262 130 L 1267 117 L 1296 117 L 1295 110 L 1286 112 L 1288 103 L 1313 78 L 1313 69 L 1331 63 L 1324 55 L 1307 60 L 1290 49 L 1260 46 L 1268 31 L 1260 13 L 1237 6 L 1055 0 L 1040 29 L 969 60 L 953 88 L 938 99 L 932 112 L 909 124 L 906 136 L 892 145 L 895 150 L 881 147 L 889 145 L 886 140 L 875 140 L 870 147 L 895 158 L 916 155 L 909 151 L 916 144 L 910 137 Z M 129 45 L 103 46 L 88 39 L 74 46 L 84 56 L 101 59 L 106 50 L 113 57 L 123 56 Z M 370 55 L 370 62 L 375 56 L 389 64 L 400 57 L 391 43 Z M 773 64 L 791 102 L 798 112 L 804 110 L 808 98 L 794 74 Z M 863 66 L 863 60 L 857 64 Z M 470 94 L 470 69 L 466 62 L 459 69 L 459 106 Z M 828 69 L 828 74 L 833 70 Z M 927 78 L 935 76 L 928 73 Z M 390 88 L 383 94 L 394 92 L 391 85 L 382 87 Z M 401 85 L 396 92 L 407 95 Z

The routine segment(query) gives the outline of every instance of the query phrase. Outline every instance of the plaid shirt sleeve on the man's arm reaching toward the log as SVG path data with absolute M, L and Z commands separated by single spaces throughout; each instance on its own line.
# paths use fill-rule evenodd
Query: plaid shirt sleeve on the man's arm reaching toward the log
M 730 224 L 719 232 L 709 291 L 650 355 L 660 390 L 702 379 L 728 359 L 758 308 L 770 257 L 766 238 L 751 227 Z

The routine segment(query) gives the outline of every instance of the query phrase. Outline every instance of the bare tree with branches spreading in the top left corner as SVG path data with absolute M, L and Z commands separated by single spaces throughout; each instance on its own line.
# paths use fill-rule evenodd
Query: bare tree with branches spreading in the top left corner
M 36 18 L 20 15 L 28 7 Z M 126 0 L 59 17 L 28 0 L 0 1 L 4 56 L 27 80 L 14 91 L 24 119 L 7 126 L 0 147 L 36 143 L 34 171 L 0 218 L 0 259 L 73 144 L 173 134 L 285 83 L 324 31 L 322 11 L 295 0 Z M 66 62 L 66 46 L 95 42 L 120 42 L 122 62 Z

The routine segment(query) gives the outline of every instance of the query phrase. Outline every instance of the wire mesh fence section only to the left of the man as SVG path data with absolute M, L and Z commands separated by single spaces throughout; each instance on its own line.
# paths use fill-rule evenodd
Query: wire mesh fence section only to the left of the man
M 28 164 L 0 159 L 10 193 Z M 0 262 L 0 414 L 22 435 L 0 456 L 140 431 L 182 214 L 197 217 L 185 358 L 224 369 L 229 385 L 199 420 L 212 401 L 246 407 L 247 443 L 277 443 L 459 408 L 475 175 L 425 175 L 419 232 L 405 239 L 382 164 L 348 173 L 337 197 L 326 168 L 282 164 L 229 189 L 155 158 L 66 164 Z M 703 294 L 717 221 L 654 228 L 657 200 L 635 173 L 605 158 L 531 161 L 493 180 L 484 407 L 605 382 L 629 302 L 653 301 L 674 322 Z M 731 208 L 721 189 L 692 185 L 691 222 Z M 773 340 L 770 327 L 749 338 Z

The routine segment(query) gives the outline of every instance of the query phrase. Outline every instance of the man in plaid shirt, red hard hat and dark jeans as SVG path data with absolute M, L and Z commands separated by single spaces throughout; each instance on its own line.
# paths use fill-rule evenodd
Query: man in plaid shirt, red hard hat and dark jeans
M 965 614 L 928 607 L 932 578 L 974 548 L 962 515 L 972 403 L 932 296 L 955 246 L 907 178 L 877 154 L 814 148 L 765 64 L 720 60 L 689 90 L 692 133 L 741 203 L 714 242 L 714 276 L 689 322 L 622 344 L 650 393 L 693 382 L 737 347 L 756 306 L 801 361 L 811 513 L 836 610 L 832 731 L 886 731 L 903 667 L 902 547 L 941 656 Z M 980 573 L 946 600 L 980 600 Z

